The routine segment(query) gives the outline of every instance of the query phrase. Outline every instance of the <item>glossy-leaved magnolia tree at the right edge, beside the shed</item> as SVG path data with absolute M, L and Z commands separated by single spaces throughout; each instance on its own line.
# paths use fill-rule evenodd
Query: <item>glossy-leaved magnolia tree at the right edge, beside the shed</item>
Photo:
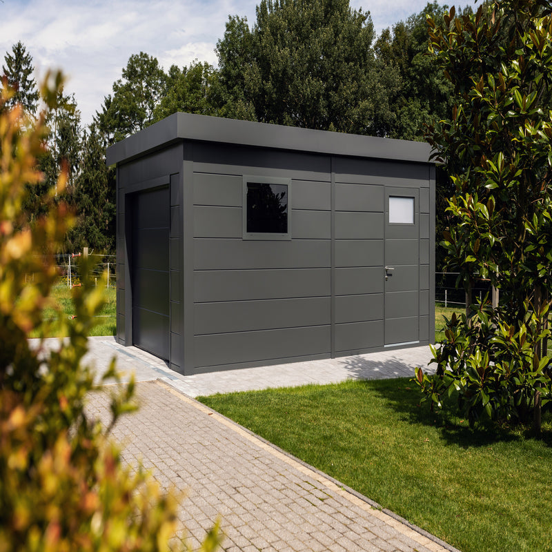
M 552 290 L 552 8 L 496 0 L 475 15 L 428 19 L 433 54 L 455 90 L 451 117 L 428 129 L 455 185 L 444 236 L 468 296 L 475 279 L 500 306 L 446 324 L 434 377 L 417 371 L 433 404 L 457 395 L 472 423 L 525 421 L 540 431 L 552 397 L 547 320 Z

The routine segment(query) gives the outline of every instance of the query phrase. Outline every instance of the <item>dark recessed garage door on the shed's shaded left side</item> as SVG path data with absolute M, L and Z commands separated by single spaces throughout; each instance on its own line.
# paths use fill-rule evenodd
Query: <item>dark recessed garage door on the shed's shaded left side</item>
M 132 344 L 170 357 L 168 188 L 132 201 Z

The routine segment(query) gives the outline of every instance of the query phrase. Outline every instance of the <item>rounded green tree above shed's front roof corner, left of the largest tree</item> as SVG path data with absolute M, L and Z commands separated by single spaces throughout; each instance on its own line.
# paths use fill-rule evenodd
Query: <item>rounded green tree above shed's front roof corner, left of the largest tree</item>
M 177 111 L 216 115 L 211 92 L 214 78 L 215 70 L 208 63 L 194 61 L 182 69 L 171 66 L 166 78 L 166 95 L 154 109 L 153 120 L 160 121 Z

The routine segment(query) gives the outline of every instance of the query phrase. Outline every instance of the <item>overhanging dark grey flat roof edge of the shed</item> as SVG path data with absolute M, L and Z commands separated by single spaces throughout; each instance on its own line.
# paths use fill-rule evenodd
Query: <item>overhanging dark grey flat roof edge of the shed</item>
M 429 161 L 431 146 L 425 142 L 311 130 L 181 112 L 174 113 L 110 146 L 106 152 L 106 161 L 108 166 L 115 165 L 180 140 L 199 140 L 326 155 L 418 163 L 433 162 Z

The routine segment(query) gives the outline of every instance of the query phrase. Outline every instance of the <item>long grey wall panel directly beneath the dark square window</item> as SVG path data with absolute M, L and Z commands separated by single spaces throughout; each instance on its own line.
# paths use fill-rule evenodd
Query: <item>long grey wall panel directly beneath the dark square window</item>
M 325 268 L 330 266 L 330 240 L 195 239 L 194 268 Z

